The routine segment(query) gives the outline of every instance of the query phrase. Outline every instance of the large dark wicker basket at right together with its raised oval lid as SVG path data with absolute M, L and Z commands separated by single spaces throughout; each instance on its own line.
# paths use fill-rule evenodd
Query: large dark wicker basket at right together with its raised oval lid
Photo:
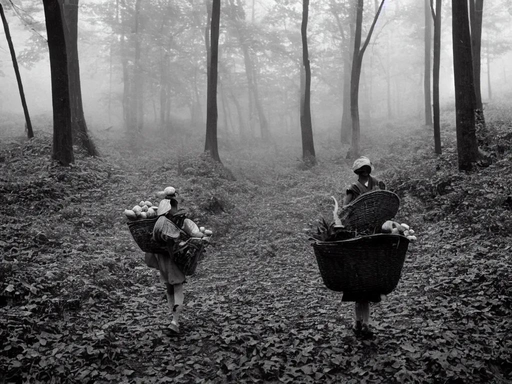
M 400 199 L 391 191 L 375 190 L 343 207 L 339 217 L 350 230 L 365 231 L 395 217 Z M 409 247 L 399 234 L 373 234 L 336 242 L 316 241 L 313 249 L 327 288 L 351 293 L 393 291 Z

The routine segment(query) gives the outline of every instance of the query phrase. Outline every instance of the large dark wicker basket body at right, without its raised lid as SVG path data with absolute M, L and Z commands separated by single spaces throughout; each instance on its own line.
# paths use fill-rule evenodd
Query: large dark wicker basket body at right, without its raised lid
M 352 293 L 393 291 L 400 280 L 408 247 L 409 239 L 400 234 L 313 243 L 326 287 Z

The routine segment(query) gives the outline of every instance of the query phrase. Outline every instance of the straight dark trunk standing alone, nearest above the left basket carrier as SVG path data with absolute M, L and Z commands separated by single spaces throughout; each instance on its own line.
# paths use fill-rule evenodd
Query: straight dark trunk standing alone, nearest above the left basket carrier
M 211 43 L 210 70 L 208 71 L 206 140 L 204 150 L 210 153 L 215 161 L 220 162 L 217 147 L 217 58 L 219 52 L 219 24 L 221 16 L 221 1 L 213 0 L 211 9 Z

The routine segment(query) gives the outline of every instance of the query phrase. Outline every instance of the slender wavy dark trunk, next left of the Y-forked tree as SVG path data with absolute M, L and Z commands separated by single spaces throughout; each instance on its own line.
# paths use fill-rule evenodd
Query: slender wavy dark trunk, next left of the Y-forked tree
M 304 66 L 304 106 L 301 108 L 302 158 L 314 163 L 315 148 L 313 145 L 313 129 L 311 124 L 311 67 L 308 56 L 308 12 L 309 0 L 302 2 L 302 61 Z

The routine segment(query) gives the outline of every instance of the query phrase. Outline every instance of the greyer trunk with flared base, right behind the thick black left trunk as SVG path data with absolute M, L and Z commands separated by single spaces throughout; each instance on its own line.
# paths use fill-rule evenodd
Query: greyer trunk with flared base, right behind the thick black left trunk
M 97 156 L 96 146 L 87 132 L 86 118 L 83 116 L 80 65 L 78 60 L 78 0 L 64 0 L 64 32 L 68 52 L 69 90 L 71 104 L 71 124 L 73 135 L 89 156 Z

